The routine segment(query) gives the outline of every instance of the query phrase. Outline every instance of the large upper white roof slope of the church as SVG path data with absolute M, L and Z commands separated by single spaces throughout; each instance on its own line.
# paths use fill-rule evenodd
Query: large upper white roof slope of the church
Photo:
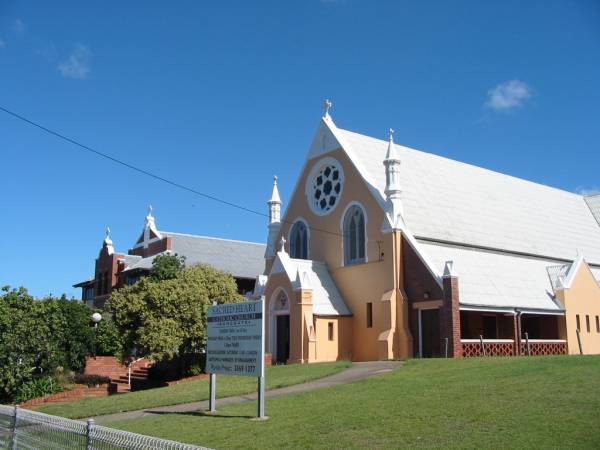
M 382 202 L 388 143 L 331 127 Z M 397 147 L 404 219 L 415 236 L 563 260 L 579 249 L 600 264 L 600 226 L 583 196 Z

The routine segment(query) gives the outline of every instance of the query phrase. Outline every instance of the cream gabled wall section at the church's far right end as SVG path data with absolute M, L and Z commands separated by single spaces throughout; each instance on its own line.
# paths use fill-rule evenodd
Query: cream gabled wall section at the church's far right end
M 586 355 L 600 354 L 600 333 L 596 329 L 596 316 L 600 317 L 600 286 L 587 263 L 583 263 L 570 289 L 557 292 L 565 305 L 566 334 L 570 354 L 579 354 L 577 342 L 577 315 L 579 315 L 581 343 Z M 587 331 L 586 316 L 590 331 Z

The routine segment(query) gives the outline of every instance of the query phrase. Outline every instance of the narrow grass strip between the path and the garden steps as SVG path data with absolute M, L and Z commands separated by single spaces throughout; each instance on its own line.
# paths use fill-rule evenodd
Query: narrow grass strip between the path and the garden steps
M 349 361 L 267 367 L 267 389 L 323 378 L 350 366 Z M 256 378 L 217 376 L 217 397 L 247 394 L 256 391 Z M 208 380 L 190 381 L 164 388 L 136 391 L 102 398 L 88 398 L 72 403 L 46 405 L 35 408 L 46 414 L 79 419 L 122 411 L 176 405 L 208 400 Z

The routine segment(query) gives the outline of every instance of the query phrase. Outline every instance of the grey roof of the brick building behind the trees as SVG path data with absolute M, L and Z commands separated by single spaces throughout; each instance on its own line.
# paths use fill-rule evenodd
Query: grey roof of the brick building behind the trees
M 185 256 L 186 265 L 210 264 L 237 278 L 256 278 L 264 271 L 264 244 L 169 231 L 160 233 L 163 237 L 171 238 L 170 253 Z M 156 256 L 141 258 L 123 272 L 150 270 Z

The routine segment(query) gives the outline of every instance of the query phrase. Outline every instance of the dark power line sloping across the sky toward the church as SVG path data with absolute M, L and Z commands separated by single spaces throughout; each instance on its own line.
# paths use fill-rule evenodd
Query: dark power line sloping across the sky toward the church
M 108 154 L 106 154 L 104 152 L 101 152 L 99 150 L 96 150 L 96 149 L 94 149 L 94 148 L 92 148 L 92 147 L 90 147 L 88 145 L 82 144 L 81 142 L 78 142 L 75 139 L 72 139 L 72 138 L 70 138 L 68 136 L 65 136 L 62 133 L 59 133 L 59 132 L 54 131 L 54 130 L 51 130 L 50 128 L 45 127 L 45 126 L 43 126 L 43 125 L 41 125 L 41 124 L 39 124 L 37 122 L 34 122 L 33 120 L 30 120 L 30 119 L 28 119 L 26 117 L 23 117 L 22 115 L 17 114 L 16 112 L 11 111 L 10 109 L 7 109 L 7 108 L 5 108 L 3 106 L 0 106 L 0 110 L 4 111 L 6 114 L 9 114 L 9 115 L 11 115 L 11 116 L 13 116 L 13 117 L 15 117 L 15 118 L 17 118 L 17 119 L 19 119 L 19 120 L 27 123 L 27 124 L 29 124 L 29 125 L 32 125 L 32 126 L 38 128 L 38 129 L 40 129 L 40 130 L 42 130 L 42 131 L 44 131 L 44 132 L 46 132 L 46 133 L 48 133 L 48 134 L 50 134 L 50 135 L 52 135 L 54 137 L 62 139 L 63 141 L 66 141 L 66 142 L 68 142 L 70 144 L 73 144 L 73 145 L 75 145 L 75 146 L 77 146 L 77 147 L 79 147 L 79 148 L 81 148 L 81 149 L 83 149 L 83 150 L 85 150 L 87 152 L 93 153 L 96 156 L 99 156 L 101 158 L 107 159 L 107 160 L 109 160 L 109 161 L 111 161 L 111 162 L 113 162 L 115 164 L 119 164 L 119 165 L 121 165 L 123 167 L 126 167 L 126 168 L 130 169 L 130 170 L 133 170 L 135 172 L 141 173 L 142 175 L 146 175 L 148 177 L 154 178 L 155 180 L 158 180 L 158 181 L 161 181 L 163 183 L 169 184 L 171 186 L 174 186 L 176 188 L 182 189 L 184 191 L 191 192 L 192 194 L 199 195 L 199 196 L 204 197 L 206 199 L 213 200 L 213 201 L 221 203 L 223 205 L 230 206 L 232 208 L 237 208 L 239 210 L 242 210 L 242 211 L 245 211 L 245 212 L 248 212 L 248 213 L 251 213 L 251 214 L 255 214 L 255 215 L 261 216 L 261 217 L 269 217 L 268 214 L 256 211 L 254 209 L 246 208 L 245 206 L 238 205 L 237 203 L 233 203 L 233 202 L 230 202 L 230 201 L 227 201 L 227 200 L 223 200 L 223 199 L 221 199 L 219 197 L 216 197 L 214 195 L 211 195 L 211 194 L 206 194 L 204 192 L 200 192 L 200 191 L 198 191 L 198 190 L 196 190 L 194 188 L 191 188 L 189 186 L 186 186 L 184 184 L 178 183 L 178 182 L 173 181 L 173 180 L 169 180 L 168 178 L 162 177 L 162 176 L 157 175 L 157 174 L 155 174 L 153 172 L 150 172 L 148 170 L 145 170 L 145 169 L 142 169 L 140 167 L 134 166 L 133 164 L 129 164 L 129 163 L 125 162 L 125 161 L 122 161 L 122 160 L 120 160 L 118 158 L 115 158 L 114 156 L 110 156 L 110 155 L 108 155 Z M 287 221 L 287 220 L 282 220 L 282 223 L 287 223 L 287 224 L 290 224 L 290 225 L 292 224 L 292 222 Z M 323 230 L 323 229 L 312 228 L 312 227 L 311 227 L 311 230 L 313 230 L 313 231 L 320 231 L 322 233 L 333 234 L 335 236 L 343 236 L 343 234 L 337 233 L 335 231 Z

